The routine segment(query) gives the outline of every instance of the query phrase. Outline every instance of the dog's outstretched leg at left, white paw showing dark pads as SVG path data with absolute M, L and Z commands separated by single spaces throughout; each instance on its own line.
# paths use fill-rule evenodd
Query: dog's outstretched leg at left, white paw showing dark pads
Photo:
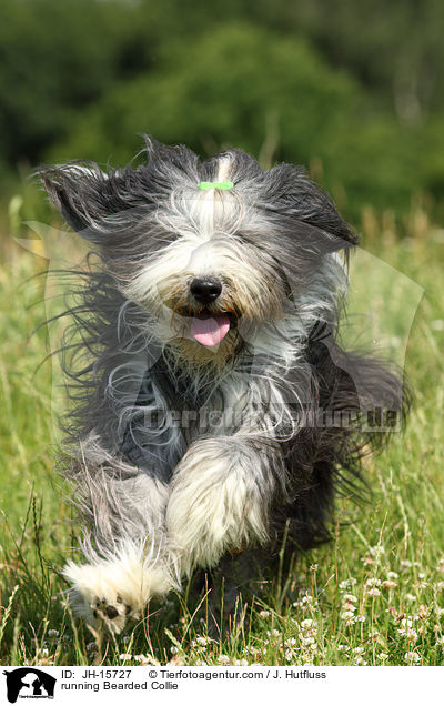
M 72 602 L 90 625 L 120 633 L 153 595 L 178 586 L 164 530 L 169 487 L 117 462 L 92 467 L 83 461 L 73 475 L 90 530 L 81 543 L 87 563 L 64 568 Z

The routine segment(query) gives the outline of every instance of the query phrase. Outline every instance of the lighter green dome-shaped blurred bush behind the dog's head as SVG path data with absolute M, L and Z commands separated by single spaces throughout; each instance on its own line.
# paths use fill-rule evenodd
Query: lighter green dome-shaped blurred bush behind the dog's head
M 141 132 L 201 154 L 226 145 L 312 168 L 341 208 L 408 203 L 417 150 L 412 130 L 369 111 L 353 78 L 303 40 L 245 23 L 176 42 L 159 69 L 115 85 L 75 120 L 51 159 L 127 162 Z M 349 198 L 347 195 L 349 194 Z

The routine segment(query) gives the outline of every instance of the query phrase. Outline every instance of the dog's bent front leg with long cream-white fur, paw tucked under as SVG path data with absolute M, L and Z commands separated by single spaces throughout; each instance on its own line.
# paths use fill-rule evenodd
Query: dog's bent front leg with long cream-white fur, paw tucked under
M 212 567 L 231 549 L 264 544 L 279 456 L 248 436 L 194 442 L 175 468 L 167 528 L 181 568 Z M 273 467 L 274 465 L 274 467 Z

